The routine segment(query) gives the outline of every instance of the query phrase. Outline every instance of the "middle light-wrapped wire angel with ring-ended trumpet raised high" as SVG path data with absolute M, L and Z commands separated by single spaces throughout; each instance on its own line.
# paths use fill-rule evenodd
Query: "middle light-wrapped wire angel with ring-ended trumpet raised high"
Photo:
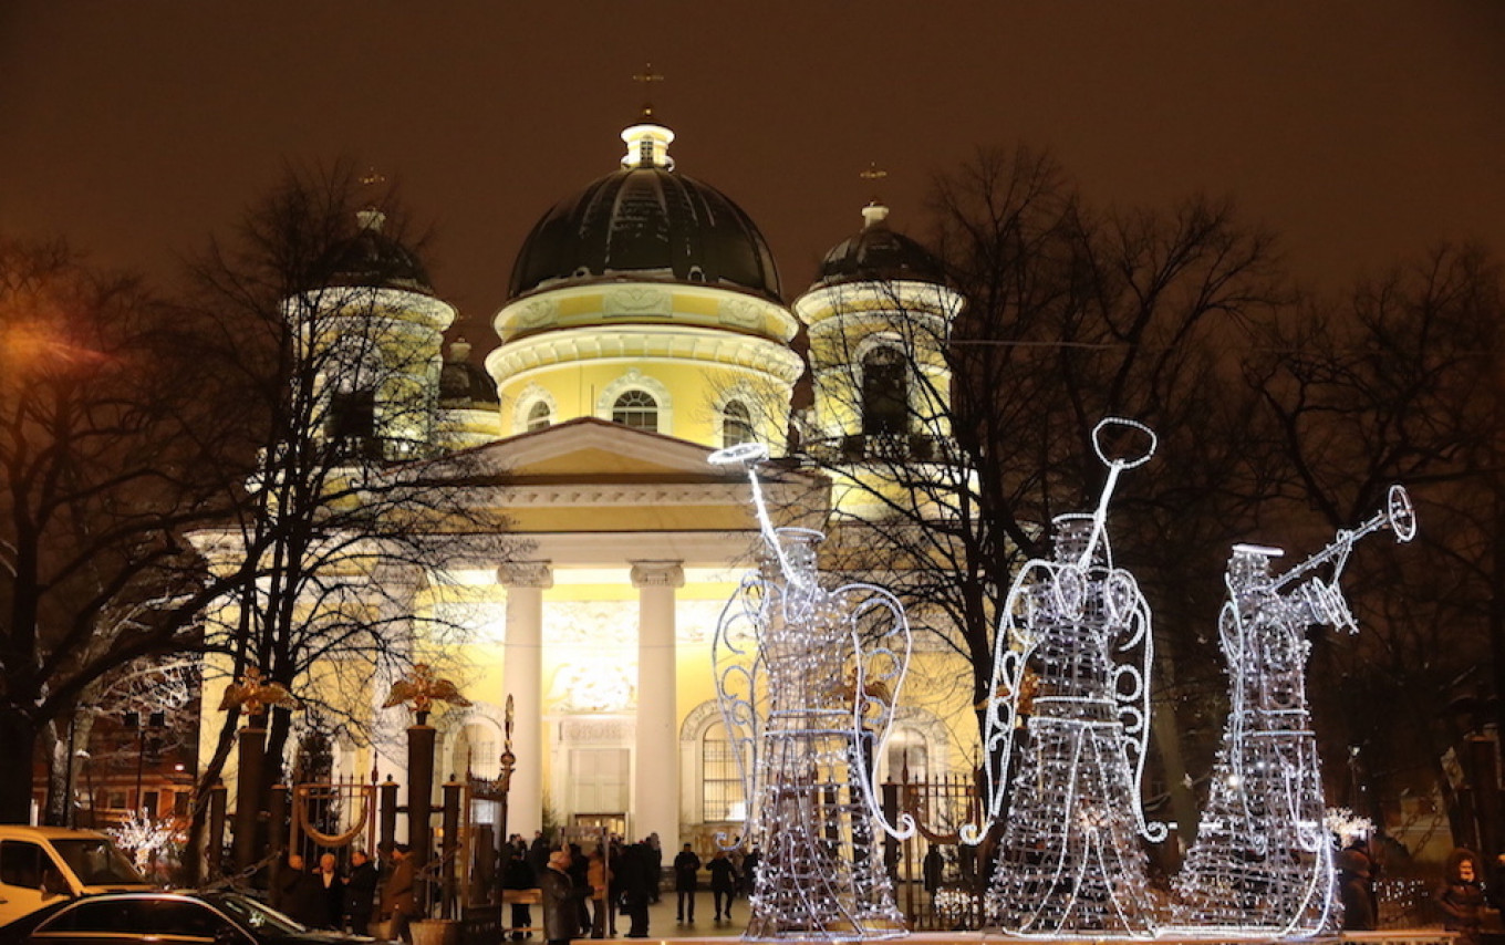
M 1148 438 L 1111 459 L 1108 432 Z M 1156 931 L 1141 838 L 1163 840 L 1139 804 L 1148 737 L 1150 606 L 1108 546 L 1108 501 L 1123 469 L 1154 454 L 1154 433 L 1103 420 L 1108 465 L 1097 510 L 1055 521 L 1050 560 L 1014 578 L 987 703 L 989 819 L 1008 817 L 984 906 L 1013 934 Z M 1010 763 L 1017 760 L 1010 779 Z M 975 831 L 963 838 L 977 840 Z

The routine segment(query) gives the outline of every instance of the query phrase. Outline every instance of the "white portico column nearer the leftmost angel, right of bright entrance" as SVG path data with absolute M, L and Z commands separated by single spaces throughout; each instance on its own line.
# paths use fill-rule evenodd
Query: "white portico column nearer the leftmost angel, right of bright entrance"
M 632 832 L 658 834 L 679 849 L 679 719 L 674 658 L 674 588 L 685 585 L 679 561 L 632 561 L 638 588 L 638 719 L 634 736 Z

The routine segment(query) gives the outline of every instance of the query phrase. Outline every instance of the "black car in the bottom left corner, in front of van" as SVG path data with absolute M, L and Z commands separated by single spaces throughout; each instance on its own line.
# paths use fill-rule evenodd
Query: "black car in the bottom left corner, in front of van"
M 233 892 L 105 892 L 65 900 L 0 928 L 0 945 L 161 942 L 166 945 L 336 945 L 367 936 L 306 928 Z

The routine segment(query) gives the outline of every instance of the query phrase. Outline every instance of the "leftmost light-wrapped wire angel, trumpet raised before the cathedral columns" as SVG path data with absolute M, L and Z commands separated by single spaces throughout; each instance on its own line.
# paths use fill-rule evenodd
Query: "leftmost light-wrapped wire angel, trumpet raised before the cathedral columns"
M 825 536 L 771 525 L 757 480 L 766 456 L 745 444 L 710 457 L 746 466 L 769 552 L 722 611 L 712 649 L 748 799 L 742 837 L 762 853 L 746 937 L 900 936 L 880 832 L 903 840 L 915 828 L 883 817 L 873 761 L 892 728 L 909 623 L 879 587 L 820 585 Z

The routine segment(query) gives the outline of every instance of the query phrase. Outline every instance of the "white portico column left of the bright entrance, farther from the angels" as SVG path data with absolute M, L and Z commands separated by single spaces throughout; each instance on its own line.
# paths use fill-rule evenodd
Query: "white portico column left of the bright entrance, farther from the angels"
M 500 701 L 512 697 L 518 755 L 507 831 L 531 840 L 543 826 L 543 590 L 554 587 L 554 572 L 548 561 L 516 561 L 498 567 L 497 581 L 507 587 Z

